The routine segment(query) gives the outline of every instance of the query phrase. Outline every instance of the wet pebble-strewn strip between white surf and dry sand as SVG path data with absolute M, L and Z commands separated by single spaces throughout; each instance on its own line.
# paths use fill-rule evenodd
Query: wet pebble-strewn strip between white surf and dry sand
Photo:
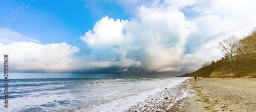
M 154 95 L 148 96 L 143 102 L 138 102 L 125 111 L 183 111 L 184 99 L 187 99 L 190 93 L 189 80 L 170 87 Z

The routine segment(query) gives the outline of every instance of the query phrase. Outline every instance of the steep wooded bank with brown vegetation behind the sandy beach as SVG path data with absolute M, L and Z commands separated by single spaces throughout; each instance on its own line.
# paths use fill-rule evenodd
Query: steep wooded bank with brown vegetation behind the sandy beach
M 256 77 L 256 28 L 242 39 L 235 35 L 219 41 L 218 49 L 224 56 L 205 62 L 202 68 L 182 77 Z

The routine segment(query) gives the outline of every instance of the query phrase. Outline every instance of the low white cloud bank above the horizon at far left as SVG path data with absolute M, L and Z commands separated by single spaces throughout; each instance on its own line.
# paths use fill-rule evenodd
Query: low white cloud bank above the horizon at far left
M 58 73 L 73 70 L 77 47 L 67 43 L 38 44 L 33 42 L 0 43 L 0 54 L 9 54 L 9 71 Z M 0 60 L 1 63 L 4 60 Z

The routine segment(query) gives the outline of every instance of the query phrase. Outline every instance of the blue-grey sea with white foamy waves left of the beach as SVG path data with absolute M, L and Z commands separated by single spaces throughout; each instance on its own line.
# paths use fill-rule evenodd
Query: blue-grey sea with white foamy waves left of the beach
M 9 79 L 0 111 L 125 111 L 188 78 Z M 4 90 L 4 79 L 0 88 Z

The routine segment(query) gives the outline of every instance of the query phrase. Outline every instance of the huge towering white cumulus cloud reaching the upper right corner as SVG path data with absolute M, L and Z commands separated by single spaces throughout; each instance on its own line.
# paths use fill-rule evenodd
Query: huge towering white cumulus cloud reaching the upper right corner
M 254 1 L 136 2 L 133 18 L 105 16 L 81 37 L 95 60 L 142 63 L 140 56 L 147 55 L 147 71 L 196 70 L 222 56 L 217 41 L 230 34 L 244 36 L 256 25 Z

